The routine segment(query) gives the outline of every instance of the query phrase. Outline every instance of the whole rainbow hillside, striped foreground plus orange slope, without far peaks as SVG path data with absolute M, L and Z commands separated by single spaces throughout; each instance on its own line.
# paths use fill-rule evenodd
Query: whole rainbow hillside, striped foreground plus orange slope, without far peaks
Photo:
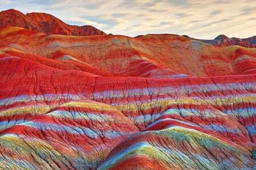
M 256 49 L 0 29 L 1 169 L 255 169 Z

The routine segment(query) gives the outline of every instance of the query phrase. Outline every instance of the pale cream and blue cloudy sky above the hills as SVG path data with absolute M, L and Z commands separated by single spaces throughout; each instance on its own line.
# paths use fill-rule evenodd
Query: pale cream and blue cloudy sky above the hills
M 138 36 L 172 33 L 197 39 L 256 35 L 256 0 L 0 0 L 0 11 L 46 12 L 72 25 Z

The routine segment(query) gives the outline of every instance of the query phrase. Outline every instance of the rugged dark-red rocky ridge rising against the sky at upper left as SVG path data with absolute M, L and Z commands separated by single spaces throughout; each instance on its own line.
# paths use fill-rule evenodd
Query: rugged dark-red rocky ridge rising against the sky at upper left
M 28 13 L 26 15 L 14 9 L 0 12 L 0 28 L 7 26 L 22 27 L 46 34 L 92 36 L 105 35 L 104 32 L 90 25 L 68 25 L 55 16 L 45 13 Z

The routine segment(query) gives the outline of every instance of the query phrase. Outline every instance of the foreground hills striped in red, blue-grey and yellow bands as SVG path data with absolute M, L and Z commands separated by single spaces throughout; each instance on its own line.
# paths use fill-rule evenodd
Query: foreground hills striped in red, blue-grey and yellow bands
M 5 53 L 0 66 L 3 169 L 255 168 L 255 74 L 116 78 Z

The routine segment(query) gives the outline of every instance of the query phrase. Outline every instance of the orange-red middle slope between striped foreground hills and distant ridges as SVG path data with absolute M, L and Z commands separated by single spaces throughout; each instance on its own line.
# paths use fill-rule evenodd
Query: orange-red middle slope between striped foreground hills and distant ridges
M 256 71 L 254 48 L 222 48 L 177 35 L 75 37 L 10 27 L 2 29 L 0 37 L 0 48 L 90 66 L 114 76 L 180 78 Z

